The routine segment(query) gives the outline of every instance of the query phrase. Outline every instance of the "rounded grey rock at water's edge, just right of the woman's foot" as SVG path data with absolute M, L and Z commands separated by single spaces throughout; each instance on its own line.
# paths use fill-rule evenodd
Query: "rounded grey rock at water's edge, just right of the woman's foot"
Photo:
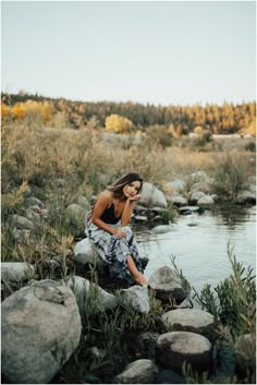
M 162 301 L 176 303 L 186 298 L 180 277 L 168 266 L 158 268 L 149 278 L 148 286 L 156 291 L 156 297 Z

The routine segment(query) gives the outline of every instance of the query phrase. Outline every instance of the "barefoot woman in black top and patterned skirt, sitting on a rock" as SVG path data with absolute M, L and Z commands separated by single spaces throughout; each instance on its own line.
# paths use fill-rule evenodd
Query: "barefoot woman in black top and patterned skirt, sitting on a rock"
M 86 236 L 109 265 L 111 277 L 144 286 L 147 280 L 138 258 L 138 246 L 127 226 L 142 187 L 143 179 L 132 172 L 105 190 L 90 213 Z

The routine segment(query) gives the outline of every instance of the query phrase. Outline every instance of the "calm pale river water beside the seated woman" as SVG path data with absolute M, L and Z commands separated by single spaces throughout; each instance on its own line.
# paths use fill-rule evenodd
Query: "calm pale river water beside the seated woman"
M 228 245 L 233 248 L 236 261 L 253 267 L 255 274 L 256 206 L 227 206 L 216 212 L 181 215 L 171 227 L 171 231 L 159 234 L 146 226 L 134 228 L 142 252 L 149 257 L 147 278 L 161 266 L 173 268 L 173 255 L 196 290 L 205 284 L 213 288 L 232 273 Z

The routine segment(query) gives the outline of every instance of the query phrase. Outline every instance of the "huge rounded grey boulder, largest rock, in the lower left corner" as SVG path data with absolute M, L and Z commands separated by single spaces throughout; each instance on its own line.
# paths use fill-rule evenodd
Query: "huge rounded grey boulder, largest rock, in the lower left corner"
M 81 316 L 71 289 L 52 280 L 24 287 L 1 305 L 2 374 L 48 384 L 78 346 Z

